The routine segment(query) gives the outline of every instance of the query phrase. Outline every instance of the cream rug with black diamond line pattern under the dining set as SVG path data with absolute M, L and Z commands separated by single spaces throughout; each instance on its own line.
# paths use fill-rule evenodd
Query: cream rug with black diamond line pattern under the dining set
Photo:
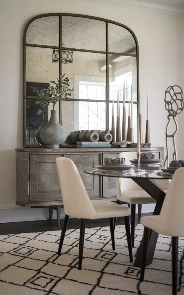
M 143 226 L 135 229 L 135 256 Z M 153 263 L 139 282 L 140 269 L 130 263 L 125 227 L 115 230 L 112 251 L 109 227 L 86 228 L 82 270 L 78 270 L 79 230 L 67 230 L 62 255 L 61 231 L 0 236 L 2 295 L 168 295 L 171 289 L 171 239 L 160 235 Z M 184 240 L 179 240 L 178 294 L 184 294 Z

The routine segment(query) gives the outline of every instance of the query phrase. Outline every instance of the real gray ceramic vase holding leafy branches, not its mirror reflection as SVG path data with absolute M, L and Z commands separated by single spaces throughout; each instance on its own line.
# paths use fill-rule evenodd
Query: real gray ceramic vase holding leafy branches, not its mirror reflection
M 51 111 L 50 121 L 41 131 L 41 140 L 47 145 L 47 148 L 59 148 L 66 138 L 67 132 L 59 124 L 57 112 Z

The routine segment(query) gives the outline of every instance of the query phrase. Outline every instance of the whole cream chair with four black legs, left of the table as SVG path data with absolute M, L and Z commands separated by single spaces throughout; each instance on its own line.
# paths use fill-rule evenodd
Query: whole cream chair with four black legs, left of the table
M 132 245 L 129 224 L 130 209 L 110 201 L 90 200 L 74 162 L 68 158 L 59 157 L 56 159 L 56 163 L 65 213 L 58 255 L 61 254 L 69 216 L 81 219 L 79 235 L 79 269 L 82 268 L 85 220 L 109 218 L 112 250 L 115 250 L 113 218 L 124 217 L 130 262 L 132 262 Z

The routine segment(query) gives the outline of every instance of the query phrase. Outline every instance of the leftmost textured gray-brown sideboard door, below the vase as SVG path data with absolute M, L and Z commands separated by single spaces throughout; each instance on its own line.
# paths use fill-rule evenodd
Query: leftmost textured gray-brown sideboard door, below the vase
M 62 201 L 56 158 L 61 154 L 31 154 L 29 201 Z

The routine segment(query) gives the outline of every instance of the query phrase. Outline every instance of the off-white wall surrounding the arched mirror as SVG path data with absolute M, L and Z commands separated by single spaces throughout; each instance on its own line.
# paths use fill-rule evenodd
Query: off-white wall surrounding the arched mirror
M 1 0 L 0 5 L 1 209 L 17 207 L 15 148 L 21 148 L 23 142 L 23 31 L 29 19 L 38 14 L 87 14 L 123 23 L 135 32 L 140 50 L 143 130 L 146 119 L 146 93 L 149 88 L 151 142 L 152 145 L 165 146 L 167 112 L 164 106 L 164 91 L 169 85 L 183 83 L 183 80 L 179 79 L 182 73 L 181 61 L 177 58 L 177 53 L 184 52 L 179 47 L 183 34 L 183 17 L 77 0 Z M 184 44 L 182 46 L 184 47 Z M 183 62 L 184 60 L 182 64 Z M 21 208 L 15 211 L 20 212 L 15 214 L 15 219 L 29 219 L 30 216 L 45 218 L 40 209 L 38 211 Z M 0 220 L 2 215 L 0 214 Z M 9 216 L 6 220 L 11 220 L 11 214 L 5 215 Z

